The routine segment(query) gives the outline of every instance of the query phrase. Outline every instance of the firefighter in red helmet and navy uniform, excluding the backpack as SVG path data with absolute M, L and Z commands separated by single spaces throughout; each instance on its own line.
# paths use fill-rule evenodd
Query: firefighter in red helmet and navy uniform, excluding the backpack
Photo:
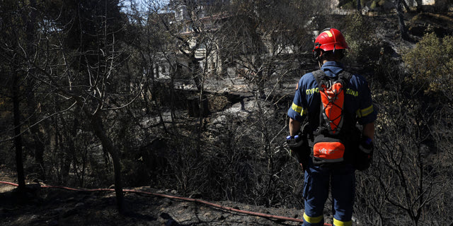
M 345 49 L 348 49 L 345 37 L 335 28 L 327 28 L 316 37 L 313 54 L 326 76 L 336 77 L 344 71 L 343 64 L 340 64 L 339 61 L 344 57 Z M 355 145 L 346 145 L 344 160 L 342 159 L 336 164 L 317 164 L 314 162 L 313 144 L 309 142 L 311 143 L 311 153 L 302 155 L 304 159 L 299 160 L 305 176 L 303 190 L 305 226 L 323 225 L 323 208 L 328 198 L 329 186 L 333 198 L 333 225 L 352 225 L 355 169 L 357 168 L 357 165 L 354 164 L 355 157 L 352 155 L 362 153 L 362 155 L 367 156 L 368 160 L 372 155 L 374 120 L 377 118 L 377 111 L 372 105 L 371 92 L 364 77 L 352 74 L 344 91 L 343 112 L 349 114 L 348 120 L 345 120 L 345 124 L 348 125 L 345 127 L 360 127 L 356 126 L 357 123 L 362 125 L 362 131 L 358 131 L 358 137 L 353 140 L 359 148 L 353 148 Z M 319 129 L 320 106 L 319 86 L 314 74 L 306 73 L 297 84 L 292 107 L 287 112 L 289 116 L 289 136 L 287 139 L 300 134 L 304 120 L 308 121 L 309 133 L 313 134 Z M 348 133 L 352 134 L 352 131 Z M 346 157 L 347 155 L 349 157 Z M 364 160 L 367 159 L 359 160 L 359 162 Z

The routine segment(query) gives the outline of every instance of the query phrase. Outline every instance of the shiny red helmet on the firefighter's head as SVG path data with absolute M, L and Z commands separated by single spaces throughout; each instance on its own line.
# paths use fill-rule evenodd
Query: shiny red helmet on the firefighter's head
M 314 41 L 313 52 L 316 49 L 323 49 L 324 51 L 330 51 L 335 49 L 349 49 L 348 43 L 346 43 L 345 37 L 341 32 L 335 28 L 326 28 L 321 34 L 316 37 Z

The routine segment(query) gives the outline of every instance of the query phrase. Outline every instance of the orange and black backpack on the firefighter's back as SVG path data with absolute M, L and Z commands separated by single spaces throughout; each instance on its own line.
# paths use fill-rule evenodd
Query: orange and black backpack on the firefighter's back
M 355 120 L 345 111 L 345 93 L 352 74 L 342 71 L 336 77 L 326 76 L 322 70 L 312 72 L 318 83 L 321 106 L 319 126 L 314 131 L 314 165 L 337 165 L 345 162 L 357 136 Z M 360 131 L 358 133 L 360 137 Z M 352 153 L 351 153 L 352 154 Z

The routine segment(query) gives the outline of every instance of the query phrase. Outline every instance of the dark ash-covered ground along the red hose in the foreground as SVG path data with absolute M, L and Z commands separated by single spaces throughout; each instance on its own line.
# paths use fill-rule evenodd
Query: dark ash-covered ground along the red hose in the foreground
M 0 181 L 16 183 L 16 174 L 0 167 Z M 262 218 L 214 208 L 202 203 L 159 196 L 125 193 L 125 213 L 119 214 L 113 191 L 69 191 L 40 188 L 28 184 L 25 197 L 16 186 L 0 184 L 0 225 L 300 225 L 299 222 Z M 147 186 L 139 191 L 178 196 L 171 191 L 156 191 Z M 213 202 L 220 206 L 287 218 L 302 218 L 303 210 L 265 208 L 231 201 Z

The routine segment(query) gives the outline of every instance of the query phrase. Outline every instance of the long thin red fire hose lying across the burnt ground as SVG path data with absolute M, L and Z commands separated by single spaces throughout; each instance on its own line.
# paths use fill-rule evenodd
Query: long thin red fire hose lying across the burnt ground
M 11 183 L 11 182 L 0 182 L 0 184 L 9 184 L 9 185 L 12 185 L 12 186 L 18 186 L 18 184 L 14 184 L 14 183 Z M 71 190 L 71 191 L 115 191 L 115 189 L 74 189 L 74 188 L 69 188 L 69 187 L 66 187 L 66 186 L 51 186 L 51 185 L 43 185 L 41 187 L 42 188 L 49 188 L 49 189 L 67 189 L 67 190 Z M 273 218 L 273 219 L 277 219 L 277 220 L 288 220 L 288 221 L 294 221 L 294 222 L 304 222 L 304 220 L 297 219 L 297 218 L 287 218 L 287 217 L 282 217 L 282 216 L 278 216 L 278 215 L 270 215 L 270 214 L 265 214 L 265 213 L 256 213 L 256 212 L 247 211 L 247 210 L 239 210 L 239 209 L 236 209 L 236 208 L 229 208 L 229 207 L 226 207 L 226 206 L 220 206 L 218 204 L 210 203 L 210 202 L 203 201 L 201 199 L 196 199 L 196 198 L 185 198 L 185 197 L 180 197 L 180 196 L 170 196 L 170 195 L 166 195 L 166 194 L 158 194 L 158 193 L 153 193 L 153 192 L 149 192 L 149 191 L 138 191 L 138 190 L 132 190 L 132 189 L 122 189 L 122 191 L 129 192 L 129 193 L 135 193 L 135 194 L 147 194 L 147 195 L 151 195 L 151 196 L 159 196 L 159 197 L 164 197 L 164 198 L 171 198 L 171 199 L 177 199 L 177 200 L 183 200 L 183 201 L 190 201 L 190 202 L 195 202 L 195 203 L 203 203 L 203 204 L 205 204 L 207 206 L 212 206 L 212 207 L 220 208 L 220 209 L 223 209 L 223 210 L 229 210 L 229 211 L 233 211 L 233 212 L 236 212 L 236 213 L 244 213 L 244 214 L 248 214 L 248 215 L 256 215 L 256 216 L 259 216 L 259 217 L 262 217 L 262 218 Z M 324 223 L 324 226 L 332 226 L 332 225 L 330 225 L 328 223 Z

